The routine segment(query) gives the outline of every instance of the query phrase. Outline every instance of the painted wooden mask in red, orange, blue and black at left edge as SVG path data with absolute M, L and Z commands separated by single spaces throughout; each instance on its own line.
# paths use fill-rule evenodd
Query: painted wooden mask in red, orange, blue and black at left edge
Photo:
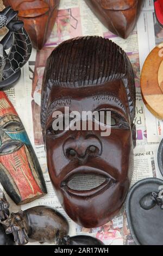
M 45 195 L 43 174 L 14 107 L 0 92 L 0 182 L 16 204 Z

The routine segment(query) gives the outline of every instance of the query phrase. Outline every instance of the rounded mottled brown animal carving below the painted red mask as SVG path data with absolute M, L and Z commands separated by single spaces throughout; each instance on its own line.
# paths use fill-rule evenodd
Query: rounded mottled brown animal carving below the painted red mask
M 65 217 L 47 206 L 35 206 L 16 214 L 2 223 L 7 234 L 14 235 L 16 245 L 30 242 L 55 242 L 68 234 L 69 226 Z

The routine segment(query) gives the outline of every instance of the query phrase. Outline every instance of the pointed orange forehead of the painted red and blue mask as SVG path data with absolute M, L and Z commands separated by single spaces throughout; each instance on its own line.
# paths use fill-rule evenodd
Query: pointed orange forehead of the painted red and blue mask
M 0 118 L 6 114 L 17 115 L 17 112 L 9 101 L 7 95 L 5 95 L 3 92 L 0 92 Z

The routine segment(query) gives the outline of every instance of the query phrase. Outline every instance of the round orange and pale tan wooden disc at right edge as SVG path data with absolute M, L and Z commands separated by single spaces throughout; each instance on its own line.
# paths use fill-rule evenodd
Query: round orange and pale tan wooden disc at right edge
M 149 111 L 163 119 L 163 48 L 156 46 L 149 53 L 141 72 L 141 93 Z

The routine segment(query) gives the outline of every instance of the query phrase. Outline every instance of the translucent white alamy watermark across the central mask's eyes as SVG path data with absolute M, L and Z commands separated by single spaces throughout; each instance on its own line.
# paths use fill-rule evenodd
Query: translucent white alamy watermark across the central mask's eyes
M 101 131 L 101 136 L 111 133 L 111 111 L 71 111 L 65 107 L 64 113 L 54 111 L 52 128 L 54 131 Z

